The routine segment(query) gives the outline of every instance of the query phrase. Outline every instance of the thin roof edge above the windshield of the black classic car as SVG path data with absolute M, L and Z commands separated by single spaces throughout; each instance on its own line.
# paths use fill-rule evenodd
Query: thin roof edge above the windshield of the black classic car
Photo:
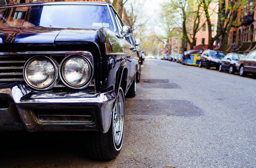
M 42 5 L 102 5 L 107 6 L 110 5 L 106 2 L 37 2 L 37 3 L 20 3 L 20 4 L 12 4 L 12 5 L 5 5 L 1 6 L 1 8 L 7 8 L 7 7 L 24 7 L 24 6 L 42 6 Z

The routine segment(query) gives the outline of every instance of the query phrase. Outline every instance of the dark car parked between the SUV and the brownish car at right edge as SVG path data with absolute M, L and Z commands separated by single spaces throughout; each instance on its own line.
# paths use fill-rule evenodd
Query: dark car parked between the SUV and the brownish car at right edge
M 229 70 L 230 74 L 234 74 L 237 71 L 237 64 L 239 59 L 244 58 L 245 54 L 228 53 L 220 60 L 219 71 Z

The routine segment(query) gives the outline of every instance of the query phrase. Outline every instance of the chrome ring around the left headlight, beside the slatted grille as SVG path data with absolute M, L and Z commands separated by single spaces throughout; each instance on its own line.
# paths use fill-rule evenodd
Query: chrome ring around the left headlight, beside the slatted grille
M 51 64 L 53 65 L 53 68 L 54 68 L 54 71 L 55 71 L 55 74 L 54 74 L 54 78 L 52 80 L 52 82 L 50 84 L 47 84 L 46 86 L 44 87 L 38 87 L 38 86 L 35 86 L 33 85 L 31 82 L 29 82 L 29 79 L 27 78 L 27 67 L 28 65 L 32 62 L 32 61 L 35 61 L 37 59 L 39 59 L 40 57 L 43 57 L 44 59 L 47 59 L 51 62 Z M 47 56 L 44 56 L 44 55 L 37 55 L 37 56 L 33 56 L 31 58 L 29 58 L 24 67 L 23 67 L 23 76 L 24 76 L 24 79 L 25 79 L 25 82 L 33 89 L 36 89 L 36 90 L 49 90 L 49 89 L 52 89 L 56 84 L 57 84 L 57 81 L 59 80 L 59 73 L 58 73 L 58 64 L 55 60 L 53 60 L 51 57 L 47 57 Z

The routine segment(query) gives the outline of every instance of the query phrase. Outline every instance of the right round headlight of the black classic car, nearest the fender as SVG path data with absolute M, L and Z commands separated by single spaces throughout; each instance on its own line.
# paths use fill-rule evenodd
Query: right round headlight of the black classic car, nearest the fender
M 74 88 L 80 88 L 89 81 L 91 66 L 86 58 L 72 56 L 62 61 L 61 72 L 65 84 Z

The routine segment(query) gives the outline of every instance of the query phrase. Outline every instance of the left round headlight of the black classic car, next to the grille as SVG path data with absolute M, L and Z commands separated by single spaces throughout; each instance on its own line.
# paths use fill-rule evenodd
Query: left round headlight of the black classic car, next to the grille
M 27 84 L 31 87 L 48 89 L 57 77 L 57 68 L 50 58 L 35 56 L 26 62 L 23 74 Z

